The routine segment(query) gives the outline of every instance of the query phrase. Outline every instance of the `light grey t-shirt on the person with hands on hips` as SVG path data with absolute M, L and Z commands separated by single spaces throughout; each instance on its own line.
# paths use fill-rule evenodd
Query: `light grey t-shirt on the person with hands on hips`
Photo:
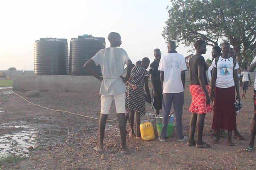
M 101 66 L 103 81 L 99 91 L 102 95 L 117 95 L 125 93 L 125 84 L 121 75 L 124 75 L 124 65 L 129 57 L 123 48 L 108 47 L 98 51 L 92 60 Z

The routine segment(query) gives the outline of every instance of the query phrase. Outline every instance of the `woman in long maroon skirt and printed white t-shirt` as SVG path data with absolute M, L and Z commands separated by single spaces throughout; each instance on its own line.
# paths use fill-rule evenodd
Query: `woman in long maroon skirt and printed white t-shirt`
M 212 129 L 217 130 L 214 143 L 220 142 L 220 129 L 226 129 L 228 132 L 227 143 L 229 146 L 234 146 L 232 142 L 232 130 L 236 130 L 234 102 L 235 99 L 240 101 L 237 76 L 239 65 L 236 61 L 233 61 L 232 57 L 229 57 L 229 43 L 223 43 L 221 51 L 222 57 L 215 58 L 211 64 L 213 66 L 213 75 L 211 77 L 210 97 L 212 100 L 214 99 Z M 214 87 L 215 92 L 213 91 Z M 236 93 L 237 96 L 235 97 Z

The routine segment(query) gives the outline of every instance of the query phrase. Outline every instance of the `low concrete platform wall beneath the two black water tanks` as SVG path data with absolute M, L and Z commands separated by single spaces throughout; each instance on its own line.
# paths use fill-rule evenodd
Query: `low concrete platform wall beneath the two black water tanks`
M 93 76 L 41 75 L 13 76 L 13 90 L 99 91 L 101 82 Z

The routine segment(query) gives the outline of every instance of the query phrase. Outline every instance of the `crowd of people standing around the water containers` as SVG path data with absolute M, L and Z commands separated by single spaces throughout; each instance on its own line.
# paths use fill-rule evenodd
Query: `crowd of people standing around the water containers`
M 189 137 L 183 135 L 182 111 L 184 104 L 185 71 L 187 71 L 186 61 L 182 54 L 176 51 L 174 41 L 168 41 L 167 54 L 162 55 L 157 48 L 154 50 L 154 61 L 150 64 L 147 57 L 132 64 L 127 52 L 120 47 L 122 41 L 118 33 L 108 35 L 110 47 L 100 50 L 89 59 L 84 68 L 95 78 L 102 82 L 101 94 L 101 115 L 99 118 L 99 145 L 93 149 L 96 152 L 103 152 L 103 140 L 106 126 L 106 119 L 113 99 L 115 100 L 116 113 L 118 117 L 122 154 L 129 153 L 126 144 L 126 122 L 129 120 L 131 131 L 129 136 L 135 136 L 134 115 L 136 121 L 136 139 L 141 139 L 140 116 L 145 115 L 145 99 L 151 103 L 151 95 L 148 86 L 149 78 L 152 84 L 152 107 L 155 108 L 156 115 L 163 109 L 163 122 L 160 142 L 165 142 L 168 118 L 173 104 L 177 140 L 183 142 L 188 140 L 188 146 L 198 148 L 209 148 L 210 144 L 203 142 L 204 118 L 206 113 L 213 111 L 213 135 L 214 143 L 219 143 L 220 136 L 227 130 L 227 144 L 234 146 L 232 142 L 232 131 L 234 138 L 244 140 L 236 127 L 236 112 L 242 107 L 240 103 L 239 78 L 237 69 L 239 65 L 234 57 L 234 50 L 230 44 L 224 42 L 221 47 L 213 47 L 211 55 L 213 62 L 208 68 L 203 54 L 206 54 L 206 42 L 197 40 L 194 43 L 196 54 L 189 61 L 189 75 L 192 101 L 189 107 L 191 112 Z M 233 50 L 233 51 L 232 51 Z M 91 65 L 95 63 L 102 68 L 102 76 L 92 70 Z M 127 73 L 124 66 L 127 65 Z M 147 68 L 149 68 L 149 72 Z M 208 69 L 208 83 L 206 71 Z M 256 57 L 250 66 L 250 72 L 256 69 Z M 242 77 L 242 98 L 246 98 L 246 91 L 249 86 L 250 74 L 247 66 L 241 73 Z M 144 89 L 145 92 L 144 93 Z M 251 137 L 247 151 L 253 150 L 256 135 L 256 79 L 254 83 L 254 108 L 255 114 L 252 123 Z M 211 103 L 212 101 L 212 103 Z M 197 139 L 194 135 L 197 129 Z

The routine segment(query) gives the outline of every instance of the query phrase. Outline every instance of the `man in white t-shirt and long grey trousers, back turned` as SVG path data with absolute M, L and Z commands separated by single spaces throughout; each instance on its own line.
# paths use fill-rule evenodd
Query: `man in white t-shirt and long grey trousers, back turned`
M 162 55 L 158 67 L 160 73 L 160 81 L 163 85 L 163 122 L 162 132 L 158 140 L 165 141 L 168 118 L 173 103 L 176 116 L 176 129 L 178 133 L 178 141 L 187 140 L 187 136 L 183 136 L 182 127 L 182 110 L 184 103 L 185 88 L 185 71 L 187 70 L 185 58 L 182 54 L 177 53 L 174 41 L 168 42 L 168 53 Z

